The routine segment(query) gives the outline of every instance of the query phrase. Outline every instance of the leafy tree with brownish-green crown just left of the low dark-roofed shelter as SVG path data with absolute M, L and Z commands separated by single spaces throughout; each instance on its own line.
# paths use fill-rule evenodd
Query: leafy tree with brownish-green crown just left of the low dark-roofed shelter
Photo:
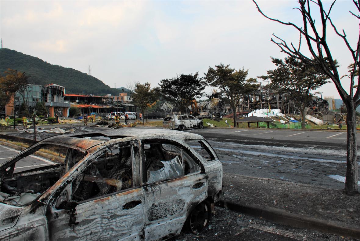
M 230 105 L 233 110 L 234 126 L 236 126 L 236 109 L 241 99 L 250 92 L 256 89 L 256 79 L 246 79 L 249 70 L 244 68 L 235 70 L 220 63 L 215 66 L 215 69 L 209 67 L 205 79 L 211 86 L 220 89 L 220 96 L 225 102 Z

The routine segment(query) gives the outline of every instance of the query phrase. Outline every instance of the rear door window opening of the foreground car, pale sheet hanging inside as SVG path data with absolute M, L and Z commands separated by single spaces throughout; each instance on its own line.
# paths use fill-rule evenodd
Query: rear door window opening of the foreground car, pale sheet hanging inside
M 144 144 L 144 153 L 147 171 L 145 184 L 179 178 L 200 170 L 185 149 L 173 144 L 147 143 Z

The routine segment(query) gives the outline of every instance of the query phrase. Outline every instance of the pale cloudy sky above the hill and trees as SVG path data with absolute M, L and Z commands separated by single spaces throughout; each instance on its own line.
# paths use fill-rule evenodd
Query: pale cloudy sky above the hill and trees
M 257 2 L 269 17 L 301 23 L 300 13 L 293 9 L 296 0 Z M 328 8 L 332 1 L 323 3 Z M 332 21 L 355 46 L 359 21 L 349 10 L 356 13 L 352 1 L 338 0 Z M 316 16 L 315 9 L 313 13 Z M 298 45 L 297 31 L 264 18 L 251 0 L 0 0 L 4 48 L 84 73 L 90 65 L 92 76 L 117 88 L 135 81 L 155 87 L 181 73 L 204 76 L 209 66 L 220 63 L 249 69 L 248 77 L 266 75 L 275 68 L 270 57 L 286 57 L 270 41 L 272 34 Z M 327 38 L 333 58 L 341 64 L 340 75 L 345 75 L 352 62 L 350 52 L 330 24 Z M 342 82 L 348 90 L 348 79 Z M 339 98 L 332 82 L 317 91 Z

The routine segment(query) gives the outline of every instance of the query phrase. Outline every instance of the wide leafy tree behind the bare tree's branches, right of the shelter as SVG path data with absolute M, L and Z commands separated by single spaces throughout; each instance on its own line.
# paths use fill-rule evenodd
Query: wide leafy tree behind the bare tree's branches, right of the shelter
M 298 59 L 287 57 L 284 60 L 271 57 L 275 70 L 266 71 L 268 75 L 259 78 L 271 80 L 271 85 L 281 92 L 287 92 L 294 100 L 294 104 L 301 112 L 301 128 L 305 129 L 305 108 L 309 106 L 311 91 L 329 82 L 323 75 L 310 65 Z

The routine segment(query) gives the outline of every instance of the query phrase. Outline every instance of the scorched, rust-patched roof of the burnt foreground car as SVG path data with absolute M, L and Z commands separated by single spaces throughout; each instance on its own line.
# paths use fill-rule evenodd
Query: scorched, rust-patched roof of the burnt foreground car
M 90 139 L 91 137 L 109 137 L 110 140 L 95 140 Z M 72 134 L 56 135 L 54 137 L 46 138 L 40 142 L 64 144 L 67 146 L 74 146 L 78 149 L 86 151 L 92 147 L 109 142 L 111 140 L 127 137 L 132 137 L 133 139 L 160 138 L 175 141 L 186 139 L 203 139 L 201 135 L 177 130 L 124 128 L 117 130 L 87 131 Z

